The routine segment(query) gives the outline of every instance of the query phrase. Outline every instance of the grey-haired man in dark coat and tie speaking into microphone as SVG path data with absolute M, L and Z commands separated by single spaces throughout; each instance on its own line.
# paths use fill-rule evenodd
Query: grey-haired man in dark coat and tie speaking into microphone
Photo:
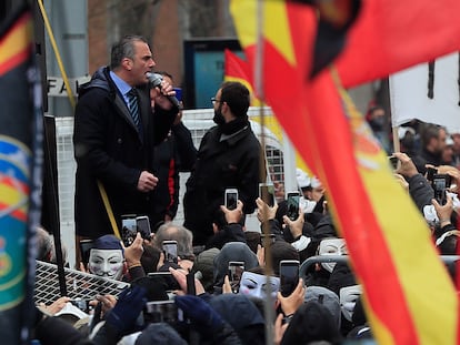
M 172 87 L 152 81 L 154 65 L 146 39 L 128 35 L 112 47 L 110 67 L 100 68 L 79 90 L 73 145 L 80 239 L 121 231 L 123 215 L 151 215 L 150 194 L 158 183 L 153 148 L 179 111 Z M 157 91 L 153 108 L 150 88 Z

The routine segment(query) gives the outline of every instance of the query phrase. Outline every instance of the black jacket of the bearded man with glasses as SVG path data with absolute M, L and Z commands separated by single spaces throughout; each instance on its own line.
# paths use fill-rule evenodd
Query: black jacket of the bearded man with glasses
M 259 141 L 250 124 L 230 139 L 220 141 L 220 135 L 218 126 L 204 134 L 194 169 L 187 181 L 184 225 L 193 232 L 197 244 L 204 244 L 212 236 L 212 221 L 217 217 L 220 205 L 224 204 L 226 189 L 238 189 L 246 214 L 252 213 L 257 206 L 260 182 Z

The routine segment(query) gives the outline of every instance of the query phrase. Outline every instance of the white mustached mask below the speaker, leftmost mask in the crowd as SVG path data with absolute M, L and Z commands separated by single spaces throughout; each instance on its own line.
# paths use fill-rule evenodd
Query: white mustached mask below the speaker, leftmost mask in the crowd
M 97 250 L 90 251 L 88 270 L 90 273 L 120 280 L 123 274 L 123 253 L 121 250 Z

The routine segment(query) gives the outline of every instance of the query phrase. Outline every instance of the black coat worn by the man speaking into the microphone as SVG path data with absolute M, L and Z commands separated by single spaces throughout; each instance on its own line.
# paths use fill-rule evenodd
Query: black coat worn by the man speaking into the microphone
M 153 146 L 161 142 L 178 113 L 150 105 L 149 89 L 139 88 L 142 133 L 139 133 L 124 100 L 102 68 L 80 89 L 74 116 L 76 232 L 98 237 L 112 233 L 97 181 L 104 185 L 116 221 L 123 214 L 151 215 L 151 193 L 137 190 L 142 170 L 156 174 Z

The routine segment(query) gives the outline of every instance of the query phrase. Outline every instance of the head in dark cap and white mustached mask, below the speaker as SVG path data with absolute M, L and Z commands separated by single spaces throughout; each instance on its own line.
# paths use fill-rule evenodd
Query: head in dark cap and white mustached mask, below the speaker
M 88 271 L 98 276 L 120 280 L 123 268 L 124 256 L 120 240 L 113 235 L 98 237 L 90 251 Z

